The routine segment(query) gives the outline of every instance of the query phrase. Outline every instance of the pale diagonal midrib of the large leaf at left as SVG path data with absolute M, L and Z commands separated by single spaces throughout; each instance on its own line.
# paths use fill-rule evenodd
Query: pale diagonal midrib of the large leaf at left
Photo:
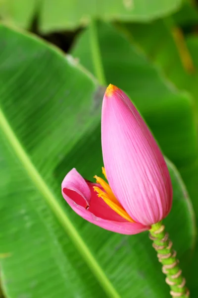
M 24 166 L 28 176 L 35 184 L 38 191 L 45 198 L 46 202 L 49 204 L 52 212 L 55 214 L 58 221 L 62 224 L 63 228 L 67 232 L 68 236 L 76 246 L 79 253 L 84 258 L 85 262 L 91 269 L 92 273 L 97 278 L 100 286 L 105 291 L 106 295 L 111 298 L 120 298 L 113 285 L 108 280 L 107 276 L 103 272 L 102 268 L 99 266 L 98 262 L 94 258 L 93 254 L 87 247 L 86 243 L 83 241 L 82 237 L 79 235 L 78 231 L 66 216 L 61 206 L 58 204 L 54 194 L 50 191 L 48 185 L 43 180 L 40 173 L 37 171 L 36 167 L 32 163 L 25 149 L 23 149 L 17 136 L 13 132 L 11 126 L 9 125 L 3 111 L 0 109 L 0 127 L 4 133 L 6 139 L 8 140 L 11 148 L 15 152 L 16 156 L 20 160 L 21 164 Z

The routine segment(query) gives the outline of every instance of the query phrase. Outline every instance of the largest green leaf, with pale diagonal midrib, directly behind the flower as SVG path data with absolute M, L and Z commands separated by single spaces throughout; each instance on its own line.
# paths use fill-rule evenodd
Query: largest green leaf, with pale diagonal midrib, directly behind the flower
M 0 271 L 6 297 L 168 298 L 148 233 L 125 236 L 87 223 L 60 193 L 72 167 L 102 166 L 102 89 L 71 58 L 0 27 Z M 13 51 L 14 49 L 14 51 Z M 191 203 L 175 167 L 166 219 L 181 267 L 195 241 Z M 181 225 L 181 219 L 185 225 Z

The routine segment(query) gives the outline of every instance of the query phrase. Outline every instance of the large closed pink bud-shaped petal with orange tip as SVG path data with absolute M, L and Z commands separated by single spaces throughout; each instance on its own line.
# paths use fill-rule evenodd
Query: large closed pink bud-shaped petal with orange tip
M 113 85 L 103 98 L 101 134 L 106 175 L 119 202 L 138 223 L 161 221 L 172 206 L 168 168 L 137 109 Z

